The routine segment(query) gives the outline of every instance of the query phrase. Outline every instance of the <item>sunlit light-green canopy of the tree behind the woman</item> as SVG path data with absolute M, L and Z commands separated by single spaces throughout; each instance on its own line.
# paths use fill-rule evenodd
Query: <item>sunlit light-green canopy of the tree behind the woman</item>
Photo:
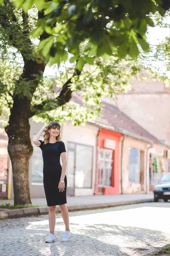
M 43 76 L 48 62 L 38 44 L 48 35 L 31 36 L 40 12 L 34 6 L 25 13 L 13 3 L 4 0 L 0 7 L 0 110 L 7 120 L 19 96 L 29 100 L 28 117 L 36 121 L 48 123 L 57 117 L 61 123 L 68 119 L 74 125 L 85 123 L 99 114 L 103 97 L 127 90 L 140 70 L 136 60 L 120 58 L 116 52 L 106 60 L 95 55 L 81 70 L 68 58 L 67 67 L 64 61 L 62 69 L 54 66 L 56 76 Z

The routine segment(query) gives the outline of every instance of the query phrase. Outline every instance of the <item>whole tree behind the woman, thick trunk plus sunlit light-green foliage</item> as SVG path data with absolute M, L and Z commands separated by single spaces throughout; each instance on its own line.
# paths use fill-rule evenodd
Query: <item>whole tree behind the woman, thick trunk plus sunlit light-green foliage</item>
M 66 2 L 69 1 L 58 2 L 65 3 L 67 7 Z M 70 48 L 69 53 L 68 49 L 63 48 L 67 45 L 63 41 L 65 35 L 59 23 L 57 37 L 60 35 L 61 41 L 53 41 L 55 45 L 51 49 L 52 44 L 44 44 L 45 40 L 51 38 L 49 27 L 44 27 L 40 36 L 40 30 L 33 32 L 34 38 L 31 34 L 37 20 L 44 22 L 44 12 L 33 6 L 25 13 L 23 8 L 27 9 L 26 3 L 29 0 L 25 2 L 25 7 L 17 9 L 14 1 L 4 0 L 0 6 L 0 111 L 8 120 L 5 130 L 13 170 L 14 204 L 31 203 L 28 163 L 33 147 L 29 136 L 29 118 L 46 123 L 56 118 L 61 122 L 72 119 L 74 124 L 90 121 L 100 111 L 101 98 L 108 95 L 113 97 L 125 90 L 130 78 L 140 69 L 136 61 L 130 57 L 120 59 L 116 51 L 110 52 L 109 59 L 108 53 L 102 52 L 104 59 L 101 58 L 101 54 L 93 52 L 95 47 L 89 44 L 89 40 L 81 39 L 76 54 L 73 49 L 76 50 L 77 44 Z M 88 6 L 85 13 L 87 11 Z M 60 15 L 62 19 L 63 12 Z M 52 25 L 50 27 L 53 29 Z M 79 36 L 81 33 L 84 34 L 83 30 L 79 30 Z M 87 46 L 90 46 L 93 58 L 89 57 Z M 56 51 L 59 61 L 56 61 Z M 56 62 L 60 63 L 56 76 L 43 76 L 47 64 Z M 71 101 L 73 92 L 77 94 Z M 77 104 L 79 102 L 80 105 Z

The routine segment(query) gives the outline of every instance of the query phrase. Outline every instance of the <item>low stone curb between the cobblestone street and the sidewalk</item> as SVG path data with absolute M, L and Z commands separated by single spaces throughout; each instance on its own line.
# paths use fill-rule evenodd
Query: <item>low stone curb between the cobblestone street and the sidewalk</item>
M 104 204 L 92 204 L 92 205 L 74 205 L 68 206 L 68 211 L 82 211 L 86 209 L 97 209 L 97 208 L 108 208 L 108 207 L 116 207 L 122 205 L 130 205 L 130 204 L 140 204 L 140 203 L 150 203 L 153 202 L 153 199 L 141 199 L 135 201 L 125 201 L 125 202 L 113 202 L 113 203 L 104 203 Z M 56 212 L 60 212 L 60 208 L 56 207 Z M 4 211 L 0 211 L 0 219 L 4 218 L 17 218 L 17 217 L 27 217 L 33 215 L 42 215 L 48 214 L 48 207 L 29 207 L 22 209 L 6 209 Z

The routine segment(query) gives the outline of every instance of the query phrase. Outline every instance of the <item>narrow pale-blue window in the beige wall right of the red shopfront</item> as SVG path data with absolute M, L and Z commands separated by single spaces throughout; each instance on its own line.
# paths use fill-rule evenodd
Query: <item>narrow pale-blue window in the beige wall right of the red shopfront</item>
M 139 160 L 140 150 L 130 148 L 129 150 L 129 181 L 139 183 Z

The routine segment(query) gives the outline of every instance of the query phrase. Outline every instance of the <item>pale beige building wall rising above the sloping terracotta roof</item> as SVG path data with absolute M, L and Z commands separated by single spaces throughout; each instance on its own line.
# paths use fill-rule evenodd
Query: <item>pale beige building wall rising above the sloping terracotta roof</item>
M 170 145 L 170 94 L 121 94 L 109 101 L 150 134 Z

